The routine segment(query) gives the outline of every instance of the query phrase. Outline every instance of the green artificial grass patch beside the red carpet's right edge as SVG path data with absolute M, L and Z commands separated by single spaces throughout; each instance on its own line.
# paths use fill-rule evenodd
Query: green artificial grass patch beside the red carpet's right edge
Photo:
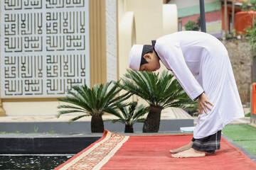
M 250 125 L 227 125 L 222 132 L 230 140 L 256 156 L 256 128 Z

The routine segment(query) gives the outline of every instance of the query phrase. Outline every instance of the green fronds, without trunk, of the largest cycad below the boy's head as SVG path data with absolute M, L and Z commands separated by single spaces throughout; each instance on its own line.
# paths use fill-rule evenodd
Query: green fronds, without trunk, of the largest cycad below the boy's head
M 185 91 L 183 91 L 178 81 L 174 79 L 173 74 L 164 71 L 160 76 L 154 72 L 137 72 L 132 69 L 127 70 L 118 83 L 122 89 L 129 91 L 131 94 L 143 98 L 150 106 L 166 107 L 185 107 L 193 103 Z M 183 101 L 186 101 L 186 105 Z M 178 102 L 181 102 L 178 104 Z

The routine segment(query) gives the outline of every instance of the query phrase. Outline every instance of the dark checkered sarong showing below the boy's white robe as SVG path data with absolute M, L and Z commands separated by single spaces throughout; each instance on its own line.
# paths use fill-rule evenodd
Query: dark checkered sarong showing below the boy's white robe
M 199 151 L 204 151 L 204 152 L 214 154 L 215 150 L 220 149 L 220 137 L 221 137 L 221 130 L 219 130 L 215 134 L 210 135 L 208 137 L 203 137 L 201 139 L 193 138 L 191 140 L 193 142 L 192 148 Z

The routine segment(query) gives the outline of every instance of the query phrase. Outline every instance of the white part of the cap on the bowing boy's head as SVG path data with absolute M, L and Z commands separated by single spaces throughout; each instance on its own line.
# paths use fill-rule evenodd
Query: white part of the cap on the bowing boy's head
M 144 45 L 133 45 L 129 53 L 129 68 L 139 71 Z

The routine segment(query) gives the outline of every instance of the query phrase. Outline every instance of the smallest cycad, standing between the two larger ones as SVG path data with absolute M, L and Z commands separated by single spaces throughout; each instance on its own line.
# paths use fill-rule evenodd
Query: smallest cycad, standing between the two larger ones
M 118 119 L 112 119 L 112 123 L 124 123 L 125 128 L 124 132 L 134 132 L 133 125 L 134 123 L 144 123 L 145 118 L 142 118 L 143 115 L 149 112 L 149 107 L 144 105 L 139 105 L 137 107 L 137 101 L 129 103 L 128 106 L 118 106 L 119 111 L 112 113 L 118 117 Z

